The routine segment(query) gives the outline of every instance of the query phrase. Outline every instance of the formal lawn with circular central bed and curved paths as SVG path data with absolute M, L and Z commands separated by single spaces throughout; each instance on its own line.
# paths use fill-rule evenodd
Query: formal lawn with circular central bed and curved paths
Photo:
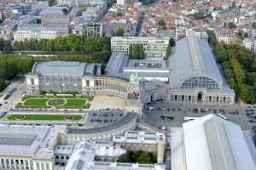
M 88 109 L 92 96 L 30 95 L 24 96 L 15 108 Z

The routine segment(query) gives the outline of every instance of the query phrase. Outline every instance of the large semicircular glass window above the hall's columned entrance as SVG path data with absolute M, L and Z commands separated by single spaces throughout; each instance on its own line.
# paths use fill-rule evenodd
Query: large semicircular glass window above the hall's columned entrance
M 218 82 L 209 77 L 192 77 L 182 83 L 181 88 L 218 89 Z

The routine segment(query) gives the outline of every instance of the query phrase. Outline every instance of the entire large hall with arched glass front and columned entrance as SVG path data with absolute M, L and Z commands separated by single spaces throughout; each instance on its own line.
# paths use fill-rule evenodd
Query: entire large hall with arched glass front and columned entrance
M 225 82 L 206 40 L 189 36 L 177 41 L 169 62 L 169 100 L 234 103 L 236 94 Z

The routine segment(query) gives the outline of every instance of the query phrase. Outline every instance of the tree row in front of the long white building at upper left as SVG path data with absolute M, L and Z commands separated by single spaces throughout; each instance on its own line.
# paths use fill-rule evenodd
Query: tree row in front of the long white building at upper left
M 56 37 L 54 40 L 15 42 L 14 49 L 18 51 L 71 51 L 88 54 L 102 50 L 110 51 L 110 39 L 109 37 L 81 37 L 71 34 L 67 37 Z

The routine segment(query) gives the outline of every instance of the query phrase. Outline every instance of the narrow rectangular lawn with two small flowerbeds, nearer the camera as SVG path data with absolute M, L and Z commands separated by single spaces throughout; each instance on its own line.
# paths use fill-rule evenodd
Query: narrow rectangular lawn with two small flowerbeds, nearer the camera
M 84 115 L 63 115 L 63 114 L 10 114 L 5 117 L 6 121 L 84 121 Z

